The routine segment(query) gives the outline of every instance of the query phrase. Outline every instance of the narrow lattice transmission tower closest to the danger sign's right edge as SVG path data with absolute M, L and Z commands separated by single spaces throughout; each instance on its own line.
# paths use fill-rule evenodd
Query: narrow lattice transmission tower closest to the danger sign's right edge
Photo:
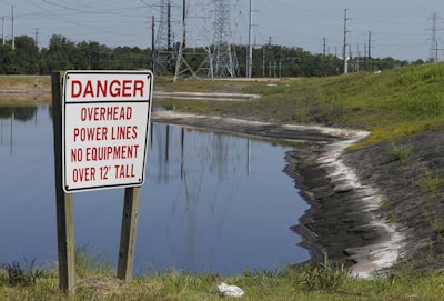
M 171 0 L 161 0 L 159 30 L 154 50 L 153 71 L 155 74 L 172 72 L 175 52 L 172 46 Z

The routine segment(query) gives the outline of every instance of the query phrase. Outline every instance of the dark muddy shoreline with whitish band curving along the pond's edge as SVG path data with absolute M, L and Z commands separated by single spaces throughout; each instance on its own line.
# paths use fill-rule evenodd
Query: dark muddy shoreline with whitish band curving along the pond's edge
M 347 263 L 353 275 L 364 278 L 397 260 L 403 238 L 379 213 L 379 191 L 361 184 L 342 159 L 345 148 L 367 132 L 174 111 L 153 112 L 152 121 L 305 142 L 310 147 L 286 153 L 289 164 L 284 171 L 311 205 L 292 230 L 303 237 L 302 245 L 311 251 L 312 260 L 322 261 L 326 253 L 332 260 Z

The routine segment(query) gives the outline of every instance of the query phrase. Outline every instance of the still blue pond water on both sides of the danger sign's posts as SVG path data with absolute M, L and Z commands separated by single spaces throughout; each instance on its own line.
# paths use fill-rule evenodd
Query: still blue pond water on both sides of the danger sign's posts
M 310 258 L 290 230 L 307 209 L 290 147 L 154 123 L 134 272 L 264 271 Z M 0 263 L 57 261 L 51 110 L 0 107 Z M 77 248 L 118 261 L 123 189 L 73 194 Z

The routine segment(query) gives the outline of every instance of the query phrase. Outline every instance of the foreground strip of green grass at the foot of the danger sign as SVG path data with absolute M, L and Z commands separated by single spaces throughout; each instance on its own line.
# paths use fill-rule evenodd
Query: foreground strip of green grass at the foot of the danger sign
M 251 272 L 225 277 L 215 273 L 192 275 L 171 270 L 152 271 L 125 283 L 107 269 L 92 270 L 79 278 L 75 294 L 58 290 L 56 272 L 36 274 L 34 269 L 22 270 L 32 281 L 11 282 L 7 269 L 0 271 L 0 300 L 221 300 L 218 285 L 225 282 L 244 291 L 239 300 L 436 300 L 444 295 L 444 275 L 403 271 L 381 274 L 374 280 L 347 275 L 343 265 L 324 261 L 303 269 L 292 267 L 279 271 Z M 229 298 L 230 299 L 230 298 Z

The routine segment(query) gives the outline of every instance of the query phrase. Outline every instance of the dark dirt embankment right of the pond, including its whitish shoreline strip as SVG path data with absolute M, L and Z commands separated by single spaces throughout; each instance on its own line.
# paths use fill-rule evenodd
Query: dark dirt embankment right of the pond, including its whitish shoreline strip
M 347 151 L 362 138 L 359 131 L 172 112 L 153 120 L 310 141 L 310 148 L 287 153 L 285 172 L 311 204 L 293 230 L 304 237 L 315 260 L 326 252 L 364 277 L 395 262 L 421 270 L 443 268 L 444 131 Z

